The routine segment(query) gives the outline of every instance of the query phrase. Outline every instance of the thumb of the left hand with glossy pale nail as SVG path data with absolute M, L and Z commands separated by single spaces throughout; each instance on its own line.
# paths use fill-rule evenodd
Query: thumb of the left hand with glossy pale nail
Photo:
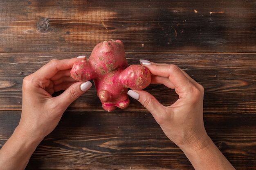
M 81 96 L 84 92 L 92 87 L 92 83 L 90 81 L 76 82 L 68 87 L 61 95 L 57 96 L 61 101 L 63 107 L 68 107 L 73 101 L 75 101 L 79 96 Z

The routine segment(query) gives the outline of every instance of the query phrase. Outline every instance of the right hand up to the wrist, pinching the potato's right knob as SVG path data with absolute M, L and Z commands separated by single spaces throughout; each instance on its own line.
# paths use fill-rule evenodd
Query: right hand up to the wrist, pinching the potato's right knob
M 136 91 L 138 101 L 151 112 L 166 136 L 178 146 L 197 142 L 206 135 L 203 123 L 204 88 L 176 65 L 150 63 L 144 66 L 152 73 L 151 83 L 175 89 L 179 99 L 166 107 L 151 94 Z

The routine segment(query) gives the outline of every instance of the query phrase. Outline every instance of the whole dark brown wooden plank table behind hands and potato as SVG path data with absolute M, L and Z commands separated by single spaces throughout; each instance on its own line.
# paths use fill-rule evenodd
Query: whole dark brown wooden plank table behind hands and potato
M 205 89 L 205 128 L 238 170 L 256 169 L 254 0 L 0 0 L 0 148 L 20 119 L 22 79 L 53 58 L 124 42 L 128 63 L 176 64 Z M 150 85 L 163 105 L 174 90 Z M 1 159 L 1 158 L 0 158 Z M 40 143 L 28 170 L 193 169 L 131 99 L 106 112 L 92 87 Z

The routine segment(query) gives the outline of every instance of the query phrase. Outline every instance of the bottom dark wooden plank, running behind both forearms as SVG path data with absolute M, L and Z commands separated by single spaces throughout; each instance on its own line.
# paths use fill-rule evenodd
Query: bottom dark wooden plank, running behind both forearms
M 0 147 L 20 118 L 0 111 Z M 204 114 L 207 133 L 237 170 L 256 169 L 256 114 Z M 193 169 L 149 112 L 65 112 L 27 169 Z

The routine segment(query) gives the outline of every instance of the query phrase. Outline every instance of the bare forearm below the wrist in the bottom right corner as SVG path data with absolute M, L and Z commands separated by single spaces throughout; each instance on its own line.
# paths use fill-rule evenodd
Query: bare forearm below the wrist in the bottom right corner
M 226 157 L 220 152 L 208 135 L 201 148 L 183 149 L 184 154 L 189 159 L 195 170 L 234 170 Z

